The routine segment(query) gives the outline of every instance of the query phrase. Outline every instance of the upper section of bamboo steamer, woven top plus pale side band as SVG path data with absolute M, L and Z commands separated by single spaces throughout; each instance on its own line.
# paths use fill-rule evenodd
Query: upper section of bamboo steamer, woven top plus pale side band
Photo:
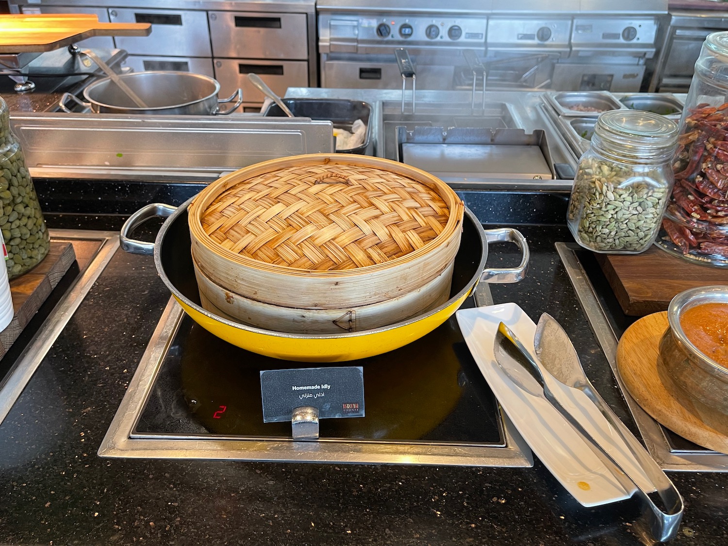
M 445 272 L 463 214 L 446 183 L 415 167 L 353 154 L 285 157 L 237 170 L 194 198 L 191 254 L 223 292 L 294 312 L 350 309 Z

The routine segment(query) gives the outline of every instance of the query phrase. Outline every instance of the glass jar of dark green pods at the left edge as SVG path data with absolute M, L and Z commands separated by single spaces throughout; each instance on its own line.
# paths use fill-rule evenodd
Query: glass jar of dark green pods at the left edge
M 7 248 L 9 278 L 28 272 L 50 248 L 41 206 L 20 142 L 10 131 L 10 113 L 0 98 L 0 231 Z

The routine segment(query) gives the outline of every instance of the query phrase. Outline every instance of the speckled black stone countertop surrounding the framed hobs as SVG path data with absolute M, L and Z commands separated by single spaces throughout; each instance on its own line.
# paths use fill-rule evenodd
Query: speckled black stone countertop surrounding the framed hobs
M 178 204 L 199 189 L 141 184 L 36 181 L 50 226 L 76 229 L 118 229 L 138 205 Z M 85 199 L 75 199 L 82 190 Z M 94 191 L 114 197 L 95 199 Z M 596 387 L 629 422 L 554 250 L 554 242 L 570 240 L 561 225 L 566 196 L 464 198 L 486 223 L 530 219 L 518 226 L 531 245 L 529 276 L 494 285 L 494 299 L 515 301 L 532 317 L 553 314 Z M 514 257 L 500 246 L 492 266 Z M 650 543 L 641 538 L 636 502 L 582 507 L 538 461 L 508 469 L 100 458 L 168 298 L 151 258 L 116 252 L 0 426 L 1 544 Z M 686 501 L 674 543 L 727 544 L 728 475 L 670 477 Z

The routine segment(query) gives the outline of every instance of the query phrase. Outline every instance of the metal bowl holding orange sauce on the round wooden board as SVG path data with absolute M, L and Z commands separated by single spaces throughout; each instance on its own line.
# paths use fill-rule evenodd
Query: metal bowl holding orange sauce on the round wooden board
M 660 339 L 657 367 L 698 406 L 728 414 L 728 368 L 700 352 L 681 324 L 681 315 L 687 309 L 715 302 L 728 304 L 728 286 L 690 288 L 670 301 L 669 327 Z

